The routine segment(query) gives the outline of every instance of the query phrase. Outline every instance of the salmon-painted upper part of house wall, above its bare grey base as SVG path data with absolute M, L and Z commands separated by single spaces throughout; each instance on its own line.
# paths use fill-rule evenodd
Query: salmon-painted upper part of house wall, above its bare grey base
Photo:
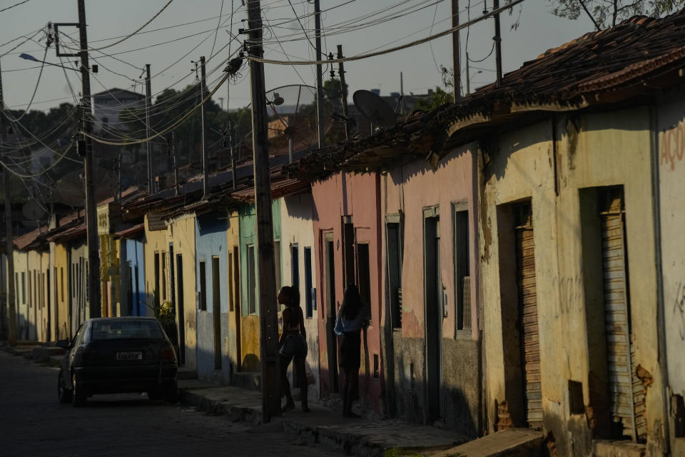
M 471 146 L 473 147 L 473 146 Z M 402 258 L 402 336 L 422 338 L 424 326 L 423 284 L 423 213 L 427 206 L 440 206 L 440 276 L 447 293 L 448 311 L 442 320 L 442 336 L 477 338 L 477 332 L 458 331 L 456 325 L 455 265 L 454 265 L 454 204 L 466 203 L 469 211 L 471 239 L 470 273 L 471 296 L 476 296 L 475 276 L 477 256 L 475 240 L 477 211 L 475 207 L 476 183 L 473 178 L 473 155 L 469 146 L 447 154 L 437 169 L 425 161 L 415 161 L 390 171 L 382 178 L 382 201 L 385 214 L 405 214 L 404 256 Z M 384 231 L 385 239 L 385 231 Z M 385 268 L 385 264 L 384 264 Z M 385 281 L 384 281 L 385 284 Z M 385 287 L 385 286 L 384 286 Z M 384 293 L 384 297 L 387 293 Z M 472 299 L 471 328 L 477 328 L 477 301 Z M 384 312 L 385 312 L 384 308 Z

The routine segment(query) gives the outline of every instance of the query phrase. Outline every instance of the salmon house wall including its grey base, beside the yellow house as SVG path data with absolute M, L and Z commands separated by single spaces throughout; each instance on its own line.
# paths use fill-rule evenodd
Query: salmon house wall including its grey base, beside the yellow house
M 423 209 L 440 208 L 440 278 L 447 296 L 447 316 L 442 317 L 442 418 L 446 426 L 475 436 L 480 422 L 479 348 L 477 342 L 477 181 L 474 178 L 475 145 L 450 151 L 432 169 L 425 161 L 392 169 L 381 177 L 381 200 L 385 215 L 402 215 L 402 326 L 385 330 L 394 351 L 395 398 L 397 415 L 410 421 L 428 421 L 425 398 L 425 298 L 424 298 L 424 219 Z M 455 293 L 455 208 L 467 209 L 471 277 L 470 325 L 457 328 Z M 383 271 L 387 275 L 387 242 L 383 232 Z M 391 325 L 388 281 L 383 284 L 383 323 Z M 396 324 L 396 323 L 395 323 Z M 394 352 L 394 354 L 393 354 Z

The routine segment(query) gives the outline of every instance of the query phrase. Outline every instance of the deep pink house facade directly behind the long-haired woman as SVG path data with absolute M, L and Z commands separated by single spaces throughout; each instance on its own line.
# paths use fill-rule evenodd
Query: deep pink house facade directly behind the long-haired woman
M 333 333 L 345 284 L 355 283 L 371 310 L 362 333 L 360 404 L 385 413 L 381 350 L 380 177 L 336 173 L 312 184 L 318 302 L 320 395 L 339 393 L 338 338 Z

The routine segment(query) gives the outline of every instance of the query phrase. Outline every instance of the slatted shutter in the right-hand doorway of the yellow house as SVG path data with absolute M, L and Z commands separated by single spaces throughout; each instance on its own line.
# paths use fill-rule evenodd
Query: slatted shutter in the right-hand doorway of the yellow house
M 634 441 L 646 437 L 644 391 L 636 376 L 630 331 L 623 201 L 612 193 L 601 214 L 604 319 L 612 421 Z

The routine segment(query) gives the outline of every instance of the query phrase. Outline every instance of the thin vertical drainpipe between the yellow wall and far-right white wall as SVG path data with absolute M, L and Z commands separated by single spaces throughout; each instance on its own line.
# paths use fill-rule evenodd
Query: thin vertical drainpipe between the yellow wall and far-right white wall
M 649 106 L 649 153 L 651 156 L 652 214 L 654 216 L 654 253 L 656 260 L 656 328 L 659 334 L 659 371 L 661 371 L 661 395 L 664 408 L 664 453 L 670 455 L 671 432 L 669 367 L 666 360 L 666 309 L 664 306 L 664 283 L 661 271 L 661 196 L 659 194 L 659 113 L 657 107 Z

